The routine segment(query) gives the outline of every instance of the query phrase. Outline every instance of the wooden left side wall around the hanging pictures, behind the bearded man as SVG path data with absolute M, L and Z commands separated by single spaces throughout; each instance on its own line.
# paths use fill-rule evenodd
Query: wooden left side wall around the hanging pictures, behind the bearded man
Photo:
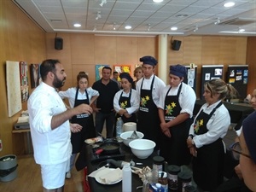
M 26 61 L 38 63 L 46 55 L 44 32 L 30 20 L 12 1 L 0 4 L 0 136 L 4 154 L 23 154 L 25 151 L 23 134 L 13 134 L 12 130 L 20 112 L 8 117 L 5 61 Z M 28 73 L 30 79 L 30 74 Z M 31 90 L 30 90 L 31 91 Z M 22 102 L 26 110 L 26 102 Z

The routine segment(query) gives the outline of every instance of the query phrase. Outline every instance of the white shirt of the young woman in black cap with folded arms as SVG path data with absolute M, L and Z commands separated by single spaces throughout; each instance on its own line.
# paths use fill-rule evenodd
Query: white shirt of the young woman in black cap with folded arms
M 124 97 L 129 97 L 130 96 L 130 91 L 129 93 L 125 93 L 124 90 L 119 90 L 113 97 L 113 108 L 114 110 L 118 113 L 119 110 L 121 109 L 121 107 L 119 106 L 119 98 L 121 96 L 121 94 L 123 93 L 122 96 Z M 137 111 L 137 109 L 140 106 L 140 98 L 137 94 L 137 90 L 133 90 L 131 89 L 131 108 L 125 108 L 126 111 L 131 114 L 131 113 L 135 113 Z

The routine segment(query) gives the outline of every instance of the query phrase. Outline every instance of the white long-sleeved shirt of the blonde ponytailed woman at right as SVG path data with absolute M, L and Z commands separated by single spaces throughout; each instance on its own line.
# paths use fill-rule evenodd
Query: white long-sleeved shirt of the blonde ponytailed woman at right
M 208 103 L 205 103 L 201 107 L 201 109 L 203 109 L 205 113 L 209 114 L 212 112 L 212 109 L 218 105 L 219 102 L 221 101 L 215 102 L 209 108 L 207 108 Z M 197 113 L 195 119 L 197 118 L 198 115 L 199 113 Z M 194 135 L 194 124 L 195 120 L 193 124 L 190 126 L 189 134 Z M 212 114 L 212 117 L 209 119 L 207 123 L 207 133 L 197 135 L 193 138 L 196 148 L 201 148 L 204 145 L 217 141 L 218 138 L 223 138 L 226 135 L 229 126 L 230 113 L 224 105 L 221 105 L 219 108 L 216 109 L 216 111 Z

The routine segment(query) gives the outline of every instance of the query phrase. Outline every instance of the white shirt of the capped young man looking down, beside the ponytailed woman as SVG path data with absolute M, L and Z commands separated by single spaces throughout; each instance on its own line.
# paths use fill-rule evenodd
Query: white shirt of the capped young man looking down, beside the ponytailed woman
M 179 105 L 182 108 L 180 113 L 189 113 L 191 118 L 193 116 L 193 109 L 196 100 L 195 91 L 188 84 L 184 84 L 183 82 L 181 84 L 183 84 L 183 86 L 178 97 Z M 177 91 L 181 84 L 179 84 L 177 87 L 172 87 L 168 93 L 168 96 L 177 96 Z M 170 87 L 170 84 L 166 85 L 166 87 L 161 91 L 160 102 L 157 106 L 158 108 L 165 109 L 166 93 Z

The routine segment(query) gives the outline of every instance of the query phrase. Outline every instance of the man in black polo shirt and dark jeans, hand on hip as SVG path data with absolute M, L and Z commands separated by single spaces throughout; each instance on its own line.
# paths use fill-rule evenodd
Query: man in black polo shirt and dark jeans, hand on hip
M 113 137 L 113 125 L 115 121 L 115 111 L 113 109 L 113 96 L 119 91 L 116 82 L 110 79 L 112 69 L 108 66 L 102 68 L 102 79 L 92 85 L 92 89 L 99 91 L 96 103 L 92 108 L 96 112 L 96 131 L 102 133 L 106 120 L 107 137 Z

